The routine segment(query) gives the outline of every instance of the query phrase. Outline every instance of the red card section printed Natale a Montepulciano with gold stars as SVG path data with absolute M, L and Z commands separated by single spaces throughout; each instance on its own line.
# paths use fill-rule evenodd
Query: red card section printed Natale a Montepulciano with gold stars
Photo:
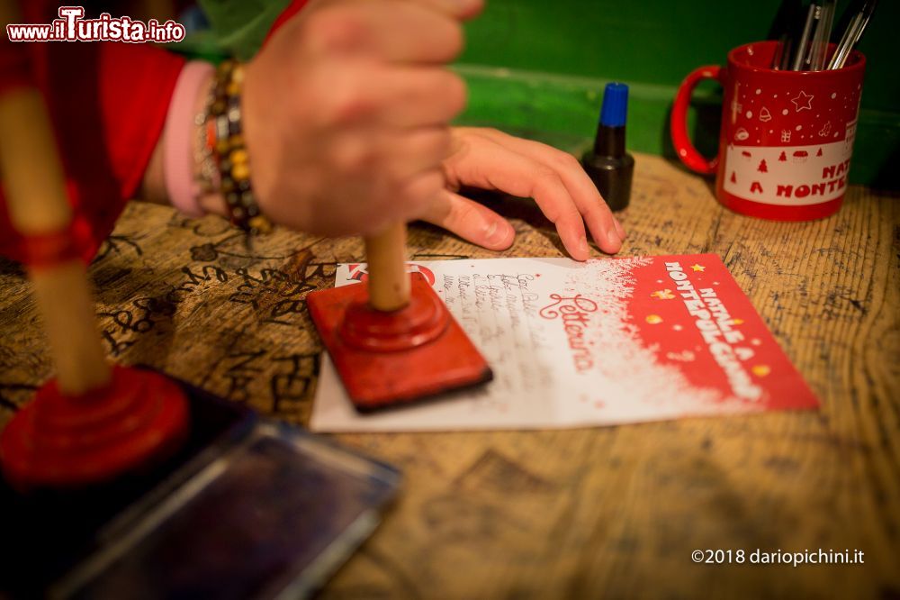
M 815 395 L 713 254 L 655 257 L 633 270 L 630 322 L 689 386 L 760 410 L 812 408 Z

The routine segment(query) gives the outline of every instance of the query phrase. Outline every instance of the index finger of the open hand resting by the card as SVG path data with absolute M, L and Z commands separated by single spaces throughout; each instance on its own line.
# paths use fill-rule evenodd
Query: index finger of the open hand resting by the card
M 576 260 L 590 256 L 581 214 L 560 175 L 535 159 L 495 141 L 473 136 L 464 151 L 445 162 L 451 183 L 496 189 L 534 198 L 547 219 L 556 224 L 563 246 Z

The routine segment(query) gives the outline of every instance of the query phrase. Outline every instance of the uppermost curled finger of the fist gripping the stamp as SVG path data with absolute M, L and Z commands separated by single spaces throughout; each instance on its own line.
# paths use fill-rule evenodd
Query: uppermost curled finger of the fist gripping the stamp
M 432 4 L 438 3 L 434 0 Z M 322 8 L 307 21 L 307 40 L 321 54 L 355 53 L 408 64 L 444 64 L 463 50 L 456 18 L 428 2 L 347 0 Z

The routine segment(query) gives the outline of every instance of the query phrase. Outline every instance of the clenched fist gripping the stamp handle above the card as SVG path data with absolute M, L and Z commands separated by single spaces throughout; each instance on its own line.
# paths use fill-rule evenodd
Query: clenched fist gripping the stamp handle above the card
M 329 0 L 247 64 L 244 133 L 273 222 L 368 234 L 423 214 L 446 189 L 448 123 L 465 104 L 444 68 L 480 0 Z M 452 12 L 452 10 L 455 12 Z

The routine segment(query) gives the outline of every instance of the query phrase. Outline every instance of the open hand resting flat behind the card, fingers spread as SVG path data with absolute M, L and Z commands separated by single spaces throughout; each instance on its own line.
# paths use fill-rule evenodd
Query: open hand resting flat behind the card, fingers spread
M 533 197 L 573 259 L 589 257 L 584 224 L 599 248 L 615 254 L 625 231 L 571 154 L 492 129 L 455 128 L 453 155 L 444 162 L 448 189 L 425 220 L 491 250 L 512 244 L 515 232 L 489 208 L 455 194 L 461 186 Z M 582 221 L 583 218 L 583 221 Z

